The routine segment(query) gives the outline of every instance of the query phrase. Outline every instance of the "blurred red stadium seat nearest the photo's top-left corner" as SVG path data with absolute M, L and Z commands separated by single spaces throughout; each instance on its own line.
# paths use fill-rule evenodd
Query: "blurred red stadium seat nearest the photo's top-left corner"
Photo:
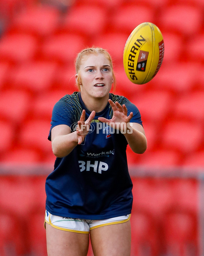
M 17 32 L 48 36 L 53 33 L 60 21 L 59 11 L 48 5 L 33 5 L 26 11 L 14 15 L 11 29 Z

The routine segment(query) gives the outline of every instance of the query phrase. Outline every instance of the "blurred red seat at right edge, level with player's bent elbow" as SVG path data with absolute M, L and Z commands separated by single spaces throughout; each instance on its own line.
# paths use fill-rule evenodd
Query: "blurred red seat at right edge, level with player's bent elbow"
M 179 150 L 182 153 L 192 153 L 203 143 L 201 134 L 203 127 L 194 122 L 173 120 L 166 124 L 162 133 L 163 147 Z

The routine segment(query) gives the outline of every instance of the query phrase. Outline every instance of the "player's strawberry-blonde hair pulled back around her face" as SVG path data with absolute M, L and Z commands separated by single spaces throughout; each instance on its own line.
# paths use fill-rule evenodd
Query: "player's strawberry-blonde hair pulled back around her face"
M 78 53 L 77 55 L 77 58 L 75 60 L 75 69 L 76 69 L 76 73 L 78 74 L 78 79 L 77 79 L 77 87 L 78 89 L 80 90 L 80 83 L 81 83 L 81 77 L 80 77 L 80 72 L 79 72 L 79 69 L 80 69 L 80 66 L 81 66 L 81 61 L 82 61 L 82 58 L 84 56 L 88 56 L 89 54 L 104 54 L 106 56 L 106 58 L 109 60 L 110 62 L 110 66 L 111 66 L 111 69 L 112 69 L 112 73 L 113 73 L 113 84 L 114 84 L 114 89 L 116 87 L 116 77 L 115 77 L 115 74 L 113 72 L 113 61 L 112 61 L 112 58 L 110 56 L 110 54 L 103 48 L 98 48 L 98 47 L 92 47 L 92 48 L 86 48 L 86 49 L 83 49 L 80 53 Z

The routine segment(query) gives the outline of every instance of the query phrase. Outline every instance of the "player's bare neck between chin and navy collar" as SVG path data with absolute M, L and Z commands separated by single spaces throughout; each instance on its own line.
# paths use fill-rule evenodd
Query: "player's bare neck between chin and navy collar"
M 102 97 L 102 98 L 92 97 L 92 98 L 89 98 L 88 100 L 86 99 L 86 97 L 84 97 L 83 94 L 81 94 L 81 97 L 86 108 L 89 111 L 94 110 L 96 112 L 101 112 L 102 110 L 104 110 L 105 106 L 108 103 L 109 94 L 106 97 Z

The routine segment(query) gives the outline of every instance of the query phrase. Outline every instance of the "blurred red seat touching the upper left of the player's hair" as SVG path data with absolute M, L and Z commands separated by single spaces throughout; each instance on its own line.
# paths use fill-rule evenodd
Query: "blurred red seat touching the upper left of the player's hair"
M 81 34 L 56 34 L 44 41 L 39 58 L 73 65 L 77 54 L 85 47 L 87 45 Z

